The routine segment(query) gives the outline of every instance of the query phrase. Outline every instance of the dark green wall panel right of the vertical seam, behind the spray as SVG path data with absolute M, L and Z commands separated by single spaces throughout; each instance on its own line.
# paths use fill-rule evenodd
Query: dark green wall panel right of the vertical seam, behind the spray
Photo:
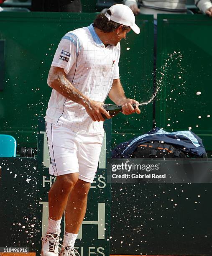
M 206 15 L 159 15 L 157 80 L 161 70 L 164 77 L 156 101 L 156 125 L 167 131 L 191 127 L 211 151 L 212 52 L 209 42 L 212 36 L 209 31 L 212 31 L 212 20 Z

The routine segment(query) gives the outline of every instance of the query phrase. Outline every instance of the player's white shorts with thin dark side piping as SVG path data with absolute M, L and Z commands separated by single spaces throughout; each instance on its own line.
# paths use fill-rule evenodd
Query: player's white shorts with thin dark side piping
M 99 163 L 104 133 L 88 135 L 46 122 L 49 146 L 49 174 L 59 176 L 79 172 L 79 179 L 92 183 Z

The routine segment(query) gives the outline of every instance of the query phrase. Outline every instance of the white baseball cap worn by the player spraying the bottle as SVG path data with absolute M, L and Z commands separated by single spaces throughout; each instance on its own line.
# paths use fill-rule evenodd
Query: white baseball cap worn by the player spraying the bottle
M 111 15 L 107 12 L 105 13 L 105 16 L 108 18 L 108 20 L 129 26 L 136 34 L 140 33 L 140 28 L 138 28 L 138 26 L 135 24 L 135 15 L 127 5 L 112 5 L 108 10 L 111 12 Z

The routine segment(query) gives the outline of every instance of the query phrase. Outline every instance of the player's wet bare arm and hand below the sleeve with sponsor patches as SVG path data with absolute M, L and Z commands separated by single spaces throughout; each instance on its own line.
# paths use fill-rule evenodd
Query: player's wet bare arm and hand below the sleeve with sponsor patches
M 104 103 L 91 100 L 89 97 L 77 90 L 66 78 L 64 69 L 51 66 L 47 83 L 64 97 L 84 106 L 86 112 L 93 121 L 104 121 L 105 119 L 102 117 L 102 114 L 106 115 L 107 118 L 110 118 L 110 115 L 101 106 Z

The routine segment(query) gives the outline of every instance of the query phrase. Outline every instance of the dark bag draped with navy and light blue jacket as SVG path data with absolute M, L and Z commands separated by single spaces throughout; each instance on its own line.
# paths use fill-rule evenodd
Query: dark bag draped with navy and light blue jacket
M 207 158 L 202 139 L 192 131 L 169 133 L 158 127 L 120 143 L 112 158 Z

